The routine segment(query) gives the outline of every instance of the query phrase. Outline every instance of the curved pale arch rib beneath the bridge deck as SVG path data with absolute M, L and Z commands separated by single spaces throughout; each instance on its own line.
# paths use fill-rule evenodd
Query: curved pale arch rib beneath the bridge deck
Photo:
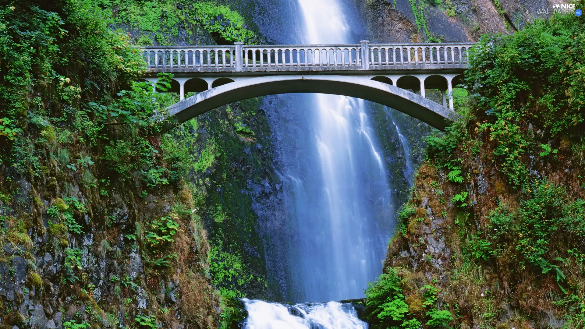
M 459 117 L 436 102 L 394 85 L 362 77 L 324 74 L 264 76 L 226 83 L 177 102 L 167 108 L 167 115 L 173 124 L 181 124 L 211 109 L 246 98 L 295 92 L 362 98 L 395 108 L 439 130 Z M 168 125 L 166 129 L 173 126 Z

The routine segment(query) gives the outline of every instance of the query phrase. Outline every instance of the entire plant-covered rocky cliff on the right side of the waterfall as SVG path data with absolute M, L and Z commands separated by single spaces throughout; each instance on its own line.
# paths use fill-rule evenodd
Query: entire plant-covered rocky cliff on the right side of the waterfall
M 426 139 L 366 292 L 373 328 L 582 326 L 582 29 L 557 16 L 476 47 L 463 119 Z

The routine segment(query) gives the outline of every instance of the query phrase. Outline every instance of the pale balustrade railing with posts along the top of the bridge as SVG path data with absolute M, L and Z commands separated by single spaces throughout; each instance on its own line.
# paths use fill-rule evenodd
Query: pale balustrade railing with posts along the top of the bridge
M 473 43 L 143 47 L 151 73 L 329 73 L 454 70 Z M 239 75 L 239 74 L 238 74 Z

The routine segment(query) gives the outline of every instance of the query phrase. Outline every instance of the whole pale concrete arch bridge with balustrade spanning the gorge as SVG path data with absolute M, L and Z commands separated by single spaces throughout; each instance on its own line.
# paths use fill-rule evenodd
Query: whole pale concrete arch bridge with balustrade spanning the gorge
M 290 92 L 346 95 L 378 102 L 440 130 L 459 115 L 453 86 L 462 83 L 472 43 L 312 44 L 143 47 L 144 80 L 173 73 L 167 108 L 178 124 L 230 102 Z M 442 104 L 425 98 L 439 89 Z M 185 98 L 187 92 L 198 92 Z M 171 128 L 171 127 L 169 127 Z

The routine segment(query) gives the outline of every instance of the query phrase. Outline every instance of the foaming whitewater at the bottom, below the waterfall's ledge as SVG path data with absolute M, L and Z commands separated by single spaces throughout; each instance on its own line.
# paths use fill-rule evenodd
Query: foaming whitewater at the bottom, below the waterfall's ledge
M 300 303 L 283 305 L 243 299 L 249 316 L 245 329 L 367 329 L 352 304 Z

